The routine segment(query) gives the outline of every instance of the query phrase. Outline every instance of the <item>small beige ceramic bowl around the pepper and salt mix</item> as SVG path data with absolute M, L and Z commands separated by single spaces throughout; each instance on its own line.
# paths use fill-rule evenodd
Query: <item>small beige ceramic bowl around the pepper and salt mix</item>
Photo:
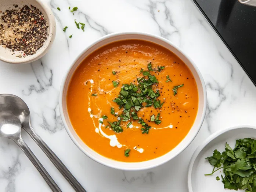
M 12 55 L 13 52 L 10 49 L 3 48 L 3 46 L 0 45 L 0 60 L 12 64 L 31 63 L 43 57 L 53 44 L 56 35 L 55 18 L 51 9 L 40 0 L 0 0 L 0 11 L 2 12 L 0 13 L 0 16 L 6 10 L 14 8 L 14 5 L 18 5 L 18 7 L 23 7 L 24 5 L 33 5 L 42 11 L 48 23 L 48 38 L 44 42 L 44 45 L 37 50 L 35 54 L 21 58 L 17 57 L 17 55 L 21 54 L 21 52 L 14 52 Z

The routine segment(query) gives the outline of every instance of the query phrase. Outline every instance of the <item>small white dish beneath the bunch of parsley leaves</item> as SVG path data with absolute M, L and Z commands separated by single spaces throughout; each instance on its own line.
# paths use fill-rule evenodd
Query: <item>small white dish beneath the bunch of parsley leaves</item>
M 227 192 L 221 182 L 222 169 L 210 176 L 204 174 L 212 173 L 213 166 L 206 157 L 210 157 L 217 149 L 222 153 L 225 151 L 225 143 L 231 148 L 235 147 L 235 140 L 243 138 L 256 139 L 256 127 L 237 126 L 224 129 L 209 136 L 194 152 L 188 167 L 188 191 L 189 192 Z M 220 180 L 217 181 L 216 177 Z M 223 174 L 224 177 L 224 174 Z

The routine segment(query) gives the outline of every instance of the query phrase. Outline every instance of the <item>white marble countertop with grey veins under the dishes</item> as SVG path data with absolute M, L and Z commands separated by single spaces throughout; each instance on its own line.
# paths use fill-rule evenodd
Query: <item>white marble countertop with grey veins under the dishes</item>
M 32 126 L 88 192 L 187 192 L 187 169 L 196 147 L 212 133 L 234 125 L 255 125 L 256 88 L 192 0 L 44 0 L 54 12 L 57 35 L 50 51 L 31 64 L 0 62 L 0 94 L 28 104 Z M 75 15 L 68 7 L 78 7 Z M 60 7 L 61 11 L 56 8 Z M 76 29 L 74 19 L 85 23 Z M 69 26 L 64 33 L 62 30 Z M 84 155 L 66 133 L 58 95 L 73 59 L 103 35 L 143 31 L 162 36 L 194 60 L 206 83 L 208 110 L 195 140 L 173 160 L 145 171 L 100 165 Z M 72 39 L 68 38 L 73 34 Z M 27 133 L 22 137 L 64 192 L 73 189 Z M 25 154 L 0 138 L 0 191 L 51 191 Z

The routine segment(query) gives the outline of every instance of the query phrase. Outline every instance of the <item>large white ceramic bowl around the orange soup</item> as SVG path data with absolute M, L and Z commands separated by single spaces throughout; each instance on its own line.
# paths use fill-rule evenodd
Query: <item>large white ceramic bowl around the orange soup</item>
M 188 68 L 190 68 L 192 74 L 194 75 L 194 78 L 198 87 L 198 94 L 199 94 L 198 113 L 195 119 L 195 123 L 190 129 L 190 131 L 188 132 L 187 136 L 169 153 L 161 157 L 158 157 L 156 159 L 152 159 L 144 162 L 136 162 L 136 163 L 126 163 L 126 162 L 115 161 L 113 159 L 106 158 L 96 153 L 91 148 L 89 148 L 79 138 L 79 136 L 76 134 L 75 130 L 73 129 L 71 122 L 69 120 L 67 106 L 66 106 L 66 94 L 68 91 L 69 82 L 76 68 L 84 60 L 84 58 L 86 58 L 90 53 L 94 52 L 95 50 L 97 50 L 98 48 L 104 45 L 110 44 L 115 41 L 126 40 L 126 39 L 141 39 L 144 41 L 153 42 L 155 44 L 161 45 L 169 49 L 178 57 L 180 57 L 180 59 L 183 60 L 183 62 L 188 66 Z M 205 112 L 206 112 L 206 105 L 207 105 L 206 100 L 207 99 L 206 99 L 205 83 L 203 81 L 202 75 L 198 71 L 198 68 L 190 59 L 188 59 L 187 56 L 185 56 L 185 54 L 179 48 L 174 46 L 170 41 L 162 37 L 158 37 L 158 36 L 147 34 L 147 33 L 137 33 L 137 32 L 112 33 L 98 39 L 92 45 L 87 47 L 79 56 L 77 56 L 77 58 L 69 68 L 68 72 L 64 76 L 64 79 L 61 84 L 61 89 L 60 89 L 60 114 L 61 114 L 63 124 L 70 138 L 73 140 L 76 146 L 81 151 L 83 151 L 83 153 L 86 154 L 88 157 L 90 157 L 94 161 L 101 163 L 102 165 L 106 165 L 108 167 L 113 167 L 116 169 L 143 170 L 143 169 L 156 167 L 158 165 L 161 165 L 169 161 L 170 159 L 180 154 L 181 151 L 183 151 L 192 142 L 192 140 L 195 138 L 196 134 L 198 133 L 203 123 L 203 119 L 205 117 Z

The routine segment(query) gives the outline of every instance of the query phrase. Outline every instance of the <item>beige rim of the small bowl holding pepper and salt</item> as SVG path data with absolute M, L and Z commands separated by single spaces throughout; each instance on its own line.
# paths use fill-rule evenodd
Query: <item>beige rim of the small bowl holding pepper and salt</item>
M 46 41 L 44 42 L 44 45 L 42 46 L 42 48 L 39 49 L 40 50 L 39 53 L 36 52 L 35 54 L 31 55 L 31 57 L 23 58 L 20 61 L 18 59 L 8 59 L 7 57 L 2 56 L 1 54 L 0 54 L 0 61 L 10 63 L 10 64 L 32 63 L 33 61 L 36 61 L 36 60 L 40 59 L 41 57 L 43 57 L 48 52 L 48 50 L 51 48 L 51 45 L 53 44 L 53 41 L 56 36 L 56 22 L 55 22 L 54 14 L 51 11 L 50 7 L 48 7 L 48 5 L 42 3 L 42 1 L 40 1 L 40 0 L 33 0 L 33 1 L 35 1 L 36 3 L 38 3 L 40 5 L 40 7 L 36 6 L 36 8 L 38 8 L 39 10 L 42 9 L 46 14 L 45 17 L 47 18 L 47 22 L 48 22 L 48 26 L 49 26 L 49 34 L 48 34 Z

